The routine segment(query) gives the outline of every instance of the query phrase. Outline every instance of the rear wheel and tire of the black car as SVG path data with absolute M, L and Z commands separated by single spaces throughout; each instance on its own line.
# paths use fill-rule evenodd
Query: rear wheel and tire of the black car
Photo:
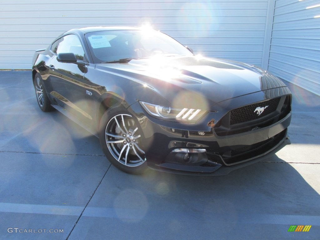
M 35 79 L 33 81 L 33 85 L 36 91 L 36 98 L 39 105 L 39 108 L 44 112 L 50 112 L 54 108 L 52 108 L 50 100 L 47 96 L 47 93 L 44 89 L 44 82 L 39 73 L 36 73 Z

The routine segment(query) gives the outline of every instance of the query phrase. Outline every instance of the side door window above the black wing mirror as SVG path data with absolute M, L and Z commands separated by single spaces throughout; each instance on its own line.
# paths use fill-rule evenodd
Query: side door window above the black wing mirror
M 57 54 L 60 52 L 72 52 L 76 55 L 77 60 L 83 61 L 85 59 L 81 42 L 73 34 L 61 37 L 55 41 L 51 46 L 51 51 Z

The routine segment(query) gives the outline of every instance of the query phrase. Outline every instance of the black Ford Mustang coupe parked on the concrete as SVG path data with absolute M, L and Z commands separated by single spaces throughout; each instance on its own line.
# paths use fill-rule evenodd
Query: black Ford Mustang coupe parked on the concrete
M 38 105 L 100 139 L 117 168 L 226 175 L 290 143 L 291 93 L 267 71 L 195 56 L 152 29 L 72 29 L 33 57 Z

